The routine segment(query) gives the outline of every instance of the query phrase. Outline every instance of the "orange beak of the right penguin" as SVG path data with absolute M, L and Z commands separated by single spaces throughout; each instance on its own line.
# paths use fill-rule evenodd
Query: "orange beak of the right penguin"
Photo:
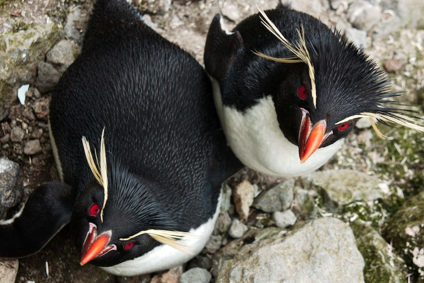
M 327 122 L 318 121 L 311 128 L 309 113 L 302 109 L 302 123 L 299 131 L 299 157 L 301 163 L 305 162 L 326 140 L 330 133 L 326 134 Z

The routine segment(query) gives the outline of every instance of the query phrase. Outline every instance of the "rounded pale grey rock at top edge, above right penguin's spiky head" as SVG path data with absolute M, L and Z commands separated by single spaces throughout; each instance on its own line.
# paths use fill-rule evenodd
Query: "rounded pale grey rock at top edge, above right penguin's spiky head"
M 366 0 L 357 0 L 349 6 L 347 18 L 355 28 L 369 31 L 380 22 L 381 9 Z

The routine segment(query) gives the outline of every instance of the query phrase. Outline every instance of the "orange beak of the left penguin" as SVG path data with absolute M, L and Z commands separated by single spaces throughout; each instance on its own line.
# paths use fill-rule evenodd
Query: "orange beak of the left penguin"
M 112 231 L 106 231 L 97 236 L 97 227 L 93 223 L 90 223 L 89 232 L 87 233 L 86 239 L 83 245 L 83 251 L 81 256 L 81 266 L 87 264 L 92 259 L 97 258 L 106 252 L 116 250 L 115 245 L 108 246 Z

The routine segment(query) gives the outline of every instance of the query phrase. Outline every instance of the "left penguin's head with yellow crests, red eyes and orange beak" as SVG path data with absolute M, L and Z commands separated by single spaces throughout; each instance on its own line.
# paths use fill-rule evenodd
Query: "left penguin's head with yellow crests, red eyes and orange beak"
M 82 253 L 80 264 L 113 266 L 160 244 L 189 253 L 180 239 L 190 233 L 175 231 L 177 223 L 155 197 L 158 185 L 130 173 L 120 162 L 106 163 L 103 137 L 104 132 L 100 169 L 94 165 L 90 145 L 83 138 L 94 179 L 78 195 L 71 217 L 72 237 Z

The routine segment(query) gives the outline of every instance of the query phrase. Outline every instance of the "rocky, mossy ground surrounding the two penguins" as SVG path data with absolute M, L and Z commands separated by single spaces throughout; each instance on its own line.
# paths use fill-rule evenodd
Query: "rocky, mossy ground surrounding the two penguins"
M 348 35 L 422 118 L 422 0 L 291 2 Z M 269 9 L 277 0 L 257 3 Z M 216 13 L 231 30 L 257 12 L 253 0 L 134 4 L 155 31 L 200 63 Z M 0 0 L 0 219 L 58 179 L 47 127 L 50 92 L 79 54 L 91 7 L 91 0 Z M 18 99 L 24 85 L 29 90 Z M 41 252 L 0 260 L 0 283 L 424 282 L 424 136 L 379 125 L 389 137 L 382 140 L 362 122 L 313 174 L 277 179 L 244 169 L 228 180 L 209 243 L 184 266 L 133 278 L 81 267 L 65 227 Z

